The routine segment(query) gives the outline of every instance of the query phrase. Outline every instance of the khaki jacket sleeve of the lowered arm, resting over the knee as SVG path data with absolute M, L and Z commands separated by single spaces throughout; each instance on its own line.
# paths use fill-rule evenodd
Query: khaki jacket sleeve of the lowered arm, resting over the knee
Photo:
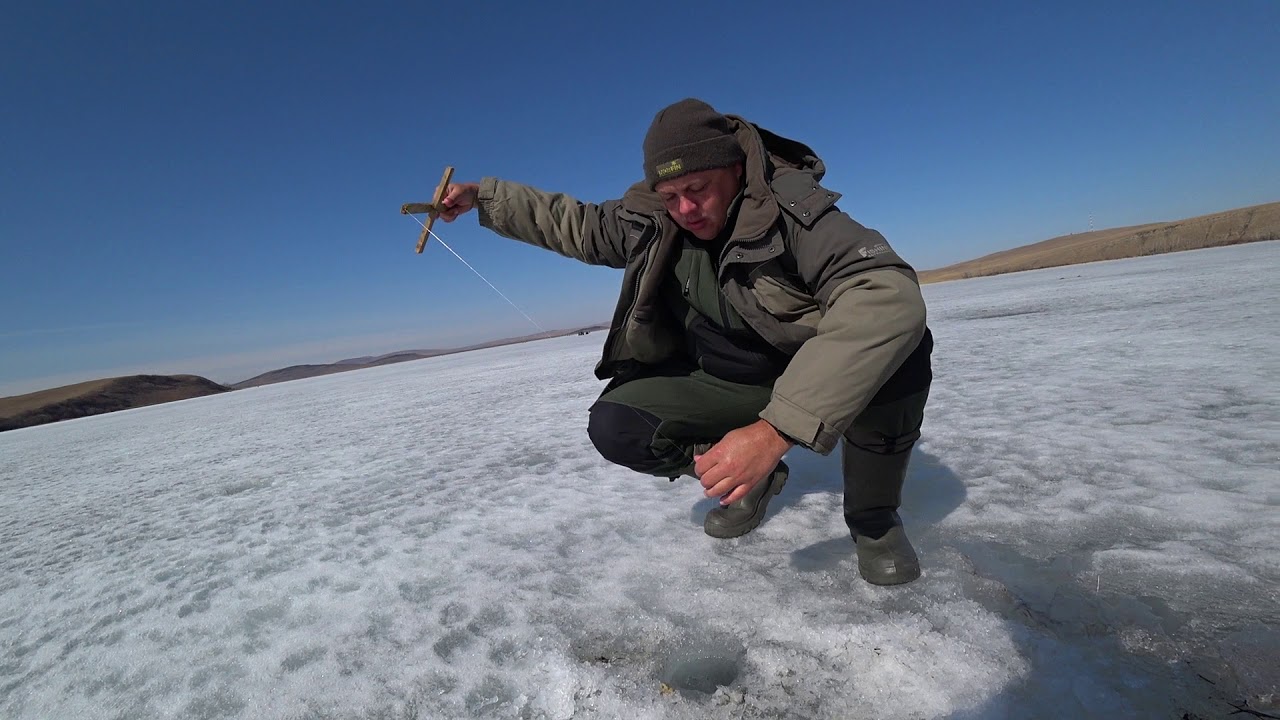
M 924 338 L 924 297 L 883 236 L 844 213 L 801 236 L 794 256 L 823 315 L 760 418 L 827 455 Z

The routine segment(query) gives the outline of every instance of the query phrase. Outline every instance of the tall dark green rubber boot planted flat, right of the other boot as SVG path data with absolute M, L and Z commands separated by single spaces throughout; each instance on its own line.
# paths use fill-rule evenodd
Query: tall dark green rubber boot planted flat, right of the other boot
M 858 544 L 858 573 L 876 585 L 920 577 L 920 560 L 897 515 L 910 459 L 910 448 L 884 455 L 844 443 L 845 523 Z

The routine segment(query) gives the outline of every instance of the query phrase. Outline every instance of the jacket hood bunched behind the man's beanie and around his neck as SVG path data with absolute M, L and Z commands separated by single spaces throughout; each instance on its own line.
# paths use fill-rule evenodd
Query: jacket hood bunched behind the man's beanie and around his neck
M 726 115 L 746 154 L 744 163 L 745 188 L 739 209 L 735 237 L 763 234 L 778 218 L 778 201 L 771 184 L 787 173 L 805 173 L 818 183 L 827 173 L 818 154 L 808 145 L 769 132 L 739 115 Z M 634 213 L 666 213 L 662 199 L 649 190 L 645 181 L 627 188 L 622 205 Z

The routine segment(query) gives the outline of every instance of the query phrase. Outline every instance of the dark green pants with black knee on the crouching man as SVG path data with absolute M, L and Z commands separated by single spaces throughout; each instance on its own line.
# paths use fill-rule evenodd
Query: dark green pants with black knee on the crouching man
M 605 460 L 673 478 L 689 471 L 694 445 L 716 443 L 759 420 L 772 389 L 696 368 L 653 370 L 611 383 L 591 406 L 588 433 Z M 927 397 L 924 391 L 867 407 L 845 433 L 845 443 L 878 454 L 910 450 L 920 437 Z

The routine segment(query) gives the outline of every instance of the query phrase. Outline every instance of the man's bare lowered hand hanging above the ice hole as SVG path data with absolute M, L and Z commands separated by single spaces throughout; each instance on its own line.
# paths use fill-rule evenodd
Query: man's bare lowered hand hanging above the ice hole
M 756 420 L 731 430 L 704 455 L 695 455 L 694 473 L 707 488 L 707 497 L 719 497 L 721 505 L 730 505 L 767 478 L 787 450 L 791 443 L 773 425 Z

